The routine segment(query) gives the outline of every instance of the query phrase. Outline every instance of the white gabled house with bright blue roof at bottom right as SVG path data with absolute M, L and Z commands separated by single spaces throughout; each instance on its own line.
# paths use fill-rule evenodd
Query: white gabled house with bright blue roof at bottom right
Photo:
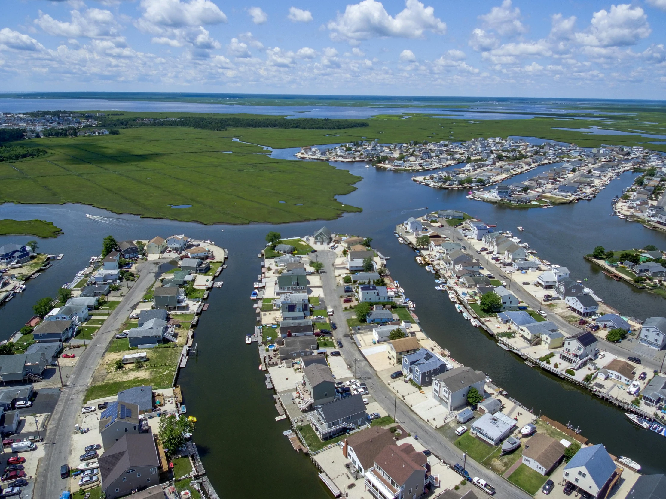
M 564 466 L 563 478 L 594 498 L 605 498 L 621 471 L 603 445 L 581 448 Z

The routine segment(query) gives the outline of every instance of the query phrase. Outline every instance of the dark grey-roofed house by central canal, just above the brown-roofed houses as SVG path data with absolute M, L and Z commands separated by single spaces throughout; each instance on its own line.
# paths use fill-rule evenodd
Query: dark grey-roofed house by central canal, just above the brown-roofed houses
M 312 427 L 322 440 L 340 433 L 346 433 L 367 424 L 366 405 L 362 395 L 352 395 L 336 399 L 326 404 L 316 405 L 310 415 Z

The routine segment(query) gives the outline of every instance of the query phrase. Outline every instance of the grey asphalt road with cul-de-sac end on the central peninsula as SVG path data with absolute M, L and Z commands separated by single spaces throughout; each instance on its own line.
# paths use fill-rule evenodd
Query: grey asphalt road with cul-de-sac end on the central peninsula
M 333 262 L 335 259 L 334 251 L 318 250 L 312 253 L 315 259 L 324 263 L 325 271 L 321 274 L 324 295 L 326 296 L 326 307 L 334 310 L 334 319 L 338 329 L 334 331 L 334 337 L 340 339 L 343 348 L 340 349 L 347 365 L 352 368 L 354 377 L 364 381 L 368 385 L 372 397 L 382 406 L 382 409 L 389 415 L 395 415 L 396 422 L 406 426 L 412 434 L 418 435 L 418 440 L 430 449 L 438 458 L 443 459 L 449 464 L 463 462 L 462 452 L 456 448 L 452 442 L 446 440 L 437 430 L 434 430 L 430 424 L 424 422 L 416 413 L 410 409 L 406 403 L 396 399 L 394 393 L 378 377 L 372 366 L 366 361 L 358 350 L 356 343 L 351 338 L 344 337 L 349 332 L 347 321 L 342 310 L 342 303 L 338 298 L 342 294 L 342 288 L 336 285 L 336 278 L 333 271 Z M 492 472 L 489 468 L 482 466 L 468 458 L 466 469 L 470 476 L 478 476 L 486 480 L 497 490 L 498 498 L 530 498 L 529 494 L 517 488 L 511 482 L 501 478 L 498 474 Z

